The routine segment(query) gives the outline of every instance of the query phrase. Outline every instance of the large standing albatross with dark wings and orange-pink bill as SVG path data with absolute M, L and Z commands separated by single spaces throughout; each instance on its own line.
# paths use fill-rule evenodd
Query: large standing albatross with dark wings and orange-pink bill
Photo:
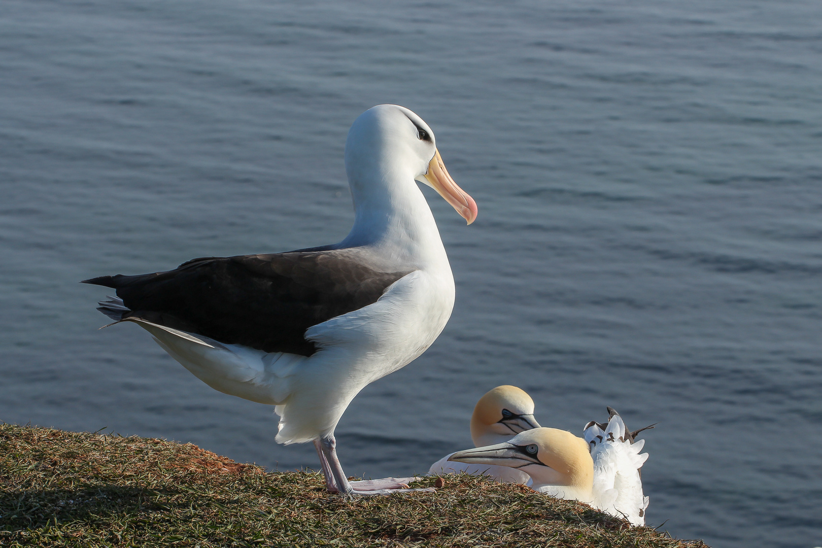
M 353 122 L 345 170 L 355 215 L 342 242 L 85 283 L 116 288 L 98 310 L 149 331 L 207 385 L 275 405 L 276 440 L 314 441 L 330 491 L 386 493 L 403 483 L 349 484 L 335 426 L 361 389 L 434 342 L 454 306 L 446 250 L 415 181 L 469 224 L 477 205 L 448 174 L 431 128 L 398 105 Z

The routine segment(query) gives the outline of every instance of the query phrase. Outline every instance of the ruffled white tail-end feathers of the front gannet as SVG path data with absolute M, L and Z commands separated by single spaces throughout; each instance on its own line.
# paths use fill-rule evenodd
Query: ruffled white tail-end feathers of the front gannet
M 644 440 L 631 444 L 619 415 L 603 431 L 593 425 L 585 431 L 593 458 L 594 506 L 633 525 L 644 525 L 648 497 L 642 492 L 640 467 L 648 454 L 640 454 Z

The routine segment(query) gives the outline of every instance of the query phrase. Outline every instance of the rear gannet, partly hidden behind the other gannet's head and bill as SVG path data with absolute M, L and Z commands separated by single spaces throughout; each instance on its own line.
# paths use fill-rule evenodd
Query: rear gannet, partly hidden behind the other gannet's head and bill
M 511 385 L 497 386 L 479 398 L 471 415 L 471 440 L 474 447 L 508 441 L 522 431 L 539 428 L 533 418 L 533 399 L 523 389 Z M 492 477 L 501 483 L 530 483 L 531 477 L 515 468 L 495 464 L 457 463 L 451 454 L 433 463 L 428 473 L 467 474 Z

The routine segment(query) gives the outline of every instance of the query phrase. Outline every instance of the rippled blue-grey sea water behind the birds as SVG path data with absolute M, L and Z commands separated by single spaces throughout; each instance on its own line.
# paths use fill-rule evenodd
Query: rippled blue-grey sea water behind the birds
M 41 2 L 0 7 L 0 420 L 280 470 L 100 274 L 338 242 L 350 123 L 413 109 L 478 203 L 424 189 L 457 284 L 422 357 L 337 429 L 349 473 L 471 445 L 496 385 L 545 426 L 646 432 L 649 523 L 822 544 L 822 3 Z

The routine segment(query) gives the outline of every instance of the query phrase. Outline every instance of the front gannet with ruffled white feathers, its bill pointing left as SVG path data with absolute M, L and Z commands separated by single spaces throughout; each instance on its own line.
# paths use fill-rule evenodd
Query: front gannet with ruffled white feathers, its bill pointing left
M 586 438 L 588 435 L 595 443 L 568 431 L 535 428 L 502 444 L 459 451 L 450 460 L 516 468 L 529 474 L 534 490 L 579 500 L 626 518 L 632 525 L 644 525 L 649 502 L 643 496 L 639 472 L 648 458 L 648 454 L 640 454 L 644 440 L 632 443 L 617 414 L 604 431 L 591 430 L 589 423 Z

